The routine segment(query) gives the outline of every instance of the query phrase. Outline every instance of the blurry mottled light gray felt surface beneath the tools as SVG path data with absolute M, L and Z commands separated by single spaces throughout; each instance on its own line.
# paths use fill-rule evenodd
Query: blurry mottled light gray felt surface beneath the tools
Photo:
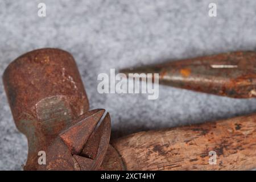
M 47 16 L 37 15 L 38 3 Z M 208 16 L 210 2 L 217 17 Z M 99 94 L 98 73 L 166 59 L 256 49 L 256 1 L 0 1 L 0 75 L 17 56 L 57 47 L 73 54 L 92 109 L 112 117 L 113 137 L 135 131 L 213 121 L 256 111 L 236 100 L 160 86 L 145 94 Z M 0 169 L 22 169 L 26 138 L 14 125 L 0 82 Z

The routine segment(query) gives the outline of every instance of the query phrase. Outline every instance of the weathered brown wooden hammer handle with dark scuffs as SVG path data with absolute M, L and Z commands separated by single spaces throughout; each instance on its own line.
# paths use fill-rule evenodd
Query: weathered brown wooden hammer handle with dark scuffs
M 127 170 L 254 169 L 256 114 L 136 133 L 114 140 L 112 145 Z M 210 151 L 216 152 L 216 164 L 209 164 Z

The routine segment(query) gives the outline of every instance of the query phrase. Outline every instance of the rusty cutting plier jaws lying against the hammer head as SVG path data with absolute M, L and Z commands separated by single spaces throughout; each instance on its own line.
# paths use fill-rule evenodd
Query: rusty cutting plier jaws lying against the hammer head
M 110 117 L 101 122 L 99 129 L 104 127 L 105 133 L 94 131 L 105 110 L 96 109 L 81 115 L 75 124 L 60 133 L 47 147 L 46 165 L 40 165 L 40 170 L 96 170 L 100 168 L 106 155 L 110 139 Z M 91 138 L 90 134 L 101 133 L 101 138 Z M 90 148 L 88 142 L 99 143 Z M 102 149 L 104 147 L 104 149 Z M 84 156 L 82 150 L 86 148 L 90 153 L 96 153 L 96 158 Z

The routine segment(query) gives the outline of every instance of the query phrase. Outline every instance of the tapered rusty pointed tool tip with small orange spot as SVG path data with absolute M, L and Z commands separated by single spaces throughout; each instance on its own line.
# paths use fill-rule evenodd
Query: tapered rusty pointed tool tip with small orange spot
M 120 72 L 126 75 L 159 73 L 159 83 L 164 85 L 234 98 L 256 97 L 256 53 L 251 51 L 171 61 Z

